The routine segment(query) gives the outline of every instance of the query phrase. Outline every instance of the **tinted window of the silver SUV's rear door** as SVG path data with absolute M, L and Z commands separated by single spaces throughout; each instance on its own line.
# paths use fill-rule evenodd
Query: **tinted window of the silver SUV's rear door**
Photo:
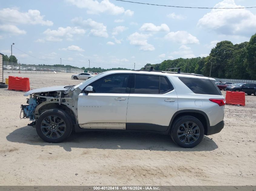
M 142 75 L 142 74 L 135 75 L 134 93 L 163 94 L 171 90 L 173 90 L 173 87 L 171 83 L 168 82 L 164 76 Z

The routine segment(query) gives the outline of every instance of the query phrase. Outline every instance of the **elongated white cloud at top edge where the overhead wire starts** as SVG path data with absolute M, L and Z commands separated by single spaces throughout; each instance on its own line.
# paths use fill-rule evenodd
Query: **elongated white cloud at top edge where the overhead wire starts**
M 123 7 L 116 6 L 109 2 L 109 0 L 103 0 L 101 2 L 94 0 L 66 0 L 67 2 L 76 5 L 78 8 L 86 8 L 88 14 L 108 13 L 112 15 L 125 14 L 128 16 L 133 15 L 133 11 L 126 10 Z

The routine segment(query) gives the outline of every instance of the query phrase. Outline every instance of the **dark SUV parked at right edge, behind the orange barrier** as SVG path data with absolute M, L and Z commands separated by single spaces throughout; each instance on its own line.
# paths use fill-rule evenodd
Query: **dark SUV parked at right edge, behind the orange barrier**
M 228 86 L 226 91 L 243 91 L 248 95 L 254 94 L 256 96 L 256 83 L 238 83 Z

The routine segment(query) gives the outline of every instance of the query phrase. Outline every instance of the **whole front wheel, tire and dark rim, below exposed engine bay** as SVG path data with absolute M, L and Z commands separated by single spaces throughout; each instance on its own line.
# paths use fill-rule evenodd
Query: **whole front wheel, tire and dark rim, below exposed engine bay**
M 56 126 L 57 128 L 55 128 Z M 73 123 L 71 117 L 65 111 L 51 109 L 43 112 L 38 117 L 35 128 L 38 136 L 45 142 L 59 143 L 69 137 L 73 129 Z

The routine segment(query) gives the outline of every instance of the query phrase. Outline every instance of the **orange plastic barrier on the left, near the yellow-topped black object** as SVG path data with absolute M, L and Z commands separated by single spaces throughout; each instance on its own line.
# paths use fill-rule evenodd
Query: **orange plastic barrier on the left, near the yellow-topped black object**
M 29 78 L 9 76 L 8 90 L 29 91 Z

